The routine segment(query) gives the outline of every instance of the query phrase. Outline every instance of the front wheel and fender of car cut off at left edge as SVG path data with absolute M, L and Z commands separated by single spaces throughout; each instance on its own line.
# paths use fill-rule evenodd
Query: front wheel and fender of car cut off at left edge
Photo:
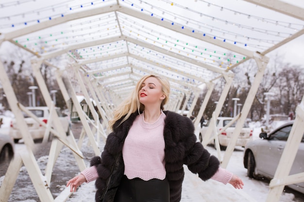
M 12 159 L 14 156 L 14 142 L 9 135 L 0 134 L 0 163 Z

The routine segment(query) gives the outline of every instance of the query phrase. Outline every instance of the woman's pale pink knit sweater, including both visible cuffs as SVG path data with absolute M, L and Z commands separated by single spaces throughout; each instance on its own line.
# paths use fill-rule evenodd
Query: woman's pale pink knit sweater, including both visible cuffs
M 165 179 L 165 140 L 163 136 L 165 118 L 164 112 L 152 124 L 144 121 L 143 113 L 135 118 L 122 148 L 124 174 L 128 179 L 135 177 L 146 181 L 153 178 Z M 98 178 L 94 166 L 85 169 L 81 174 L 84 175 L 87 183 Z M 227 184 L 231 178 L 231 172 L 219 168 L 211 179 Z

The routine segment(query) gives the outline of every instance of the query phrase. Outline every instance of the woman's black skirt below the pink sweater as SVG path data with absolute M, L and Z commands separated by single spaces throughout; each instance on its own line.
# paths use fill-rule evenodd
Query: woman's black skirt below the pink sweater
M 169 182 L 140 178 L 128 179 L 125 175 L 115 195 L 114 202 L 170 202 Z

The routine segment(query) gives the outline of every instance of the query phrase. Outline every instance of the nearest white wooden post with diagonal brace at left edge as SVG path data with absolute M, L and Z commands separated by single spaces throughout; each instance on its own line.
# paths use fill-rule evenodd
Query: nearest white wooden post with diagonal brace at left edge
M 34 141 L 32 139 L 32 136 L 29 133 L 27 124 L 23 118 L 21 110 L 18 107 L 17 97 L 14 93 L 12 86 L 10 85 L 10 81 L 4 70 L 2 62 L 0 62 L 0 80 L 1 80 L 1 84 L 3 86 L 3 90 L 6 94 L 8 103 L 10 104 L 10 107 L 12 108 L 12 111 L 14 112 L 14 114 L 16 116 L 17 124 L 19 126 L 22 138 L 24 139 L 24 143 L 26 145 L 26 148 L 24 149 L 24 151 L 21 151 L 21 152 L 18 152 L 17 154 L 15 154 L 16 160 L 13 160 L 11 162 L 11 164 L 9 166 L 9 168 L 11 168 L 11 169 L 9 169 L 7 171 L 7 173 L 5 174 L 6 179 L 4 179 L 4 181 L 1 185 L 1 188 L 0 188 L 1 198 L 3 198 L 3 199 L 9 198 L 9 195 L 12 192 L 12 188 L 13 188 L 14 184 L 16 183 L 17 175 L 21 168 L 21 164 L 23 162 L 30 175 L 30 178 L 33 182 L 33 185 L 39 196 L 40 201 L 41 202 L 53 202 L 53 197 L 51 195 L 50 189 L 49 189 L 47 183 L 43 179 L 43 175 L 39 169 L 39 166 L 35 160 L 35 157 L 34 157 L 34 154 L 32 151 L 32 148 L 34 146 Z M 12 168 L 12 167 L 15 167 L 15 168 Z M 5 190 L 5 188 L 7 188 L 8 190 Z

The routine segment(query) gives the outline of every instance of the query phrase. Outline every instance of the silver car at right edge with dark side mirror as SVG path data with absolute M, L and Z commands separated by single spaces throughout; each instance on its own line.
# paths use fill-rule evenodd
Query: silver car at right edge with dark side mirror
M 260 133 L 260 140 L 249 142 L 244 149 L 244 167 L 250 178 L 272 179 L 285 148 L 293 122 L 283 124 L 269 134 Z M 304 172 L 304 134 L 289 174 Z M 304 193 L 304 182 L 288 185 Z

